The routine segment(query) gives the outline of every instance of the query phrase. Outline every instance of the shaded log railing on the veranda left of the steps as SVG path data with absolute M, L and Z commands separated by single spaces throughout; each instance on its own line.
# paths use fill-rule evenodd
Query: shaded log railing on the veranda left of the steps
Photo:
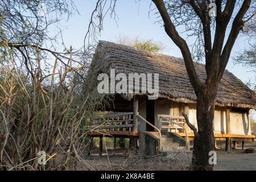
M 90 129 L 97 131 L 131 131 L 133 112 L 104 115 L 90 119 Z

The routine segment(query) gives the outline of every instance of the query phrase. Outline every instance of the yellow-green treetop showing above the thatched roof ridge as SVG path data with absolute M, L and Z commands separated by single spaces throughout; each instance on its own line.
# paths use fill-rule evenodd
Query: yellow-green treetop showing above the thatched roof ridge
M 138 37 L 130 39 L 126 36 L 119 36 L 117 43 L 150 52 L 159 52 L 164 49 L 163 43 L 155 42 L 153 39 L 139 39 Z

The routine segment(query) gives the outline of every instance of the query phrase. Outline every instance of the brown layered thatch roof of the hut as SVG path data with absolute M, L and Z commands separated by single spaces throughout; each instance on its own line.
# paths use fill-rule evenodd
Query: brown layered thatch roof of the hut
M 205 65 L 195 63 L 201 81 L 207 77 Z M 159 73 L 159 97 L 177 102 L 196 103 L 183 59 L 143 51 L 121 44 L 100 41 L 93 57 L 91 71 L 109 73 Z M 124 95 L 130 99 L 132 95 Z M 216 105 L 256 108 L 255 93 L 227 70 L 218 85 Z

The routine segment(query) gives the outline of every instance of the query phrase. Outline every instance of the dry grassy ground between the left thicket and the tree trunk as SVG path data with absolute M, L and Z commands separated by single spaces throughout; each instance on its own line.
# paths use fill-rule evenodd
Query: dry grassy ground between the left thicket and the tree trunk
M 129 154 L 123 155 L 110 155 L 108 158 L 102 156 L 98 158 L 91 156 L 90 163 L 96 170 L 116 170 L 116 171 L 184 171 L 191 170 L 191 157 L 192 155 L 184 152 L 170 152 L 167 156 L 162 154 L 155 156 L 130 156 Z

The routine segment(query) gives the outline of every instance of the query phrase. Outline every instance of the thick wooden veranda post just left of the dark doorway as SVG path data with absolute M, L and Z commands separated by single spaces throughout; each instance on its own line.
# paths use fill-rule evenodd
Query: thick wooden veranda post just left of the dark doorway
M 133 131 L 138 131 L 138 96 L 133 96 Z M 137 137 L 131 137 L 131 155 L 137 155 Z

